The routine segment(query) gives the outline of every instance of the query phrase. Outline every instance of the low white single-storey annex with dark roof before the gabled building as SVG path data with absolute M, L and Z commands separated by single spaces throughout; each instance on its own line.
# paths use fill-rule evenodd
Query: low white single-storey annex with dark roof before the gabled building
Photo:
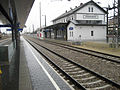
M 83 23 L 83 22 L 82 22 Z M 70 21 L 67 26 L 67 40 L 88 41 L 88 40 L 105 40 L 106 25 L 81 24 L 79 21 Z

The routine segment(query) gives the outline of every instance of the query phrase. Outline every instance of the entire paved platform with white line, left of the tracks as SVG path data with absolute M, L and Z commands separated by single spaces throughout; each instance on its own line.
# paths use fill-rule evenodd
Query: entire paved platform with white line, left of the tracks
M 45 59 L 21 37 L 19 90 L 72 89 Z

